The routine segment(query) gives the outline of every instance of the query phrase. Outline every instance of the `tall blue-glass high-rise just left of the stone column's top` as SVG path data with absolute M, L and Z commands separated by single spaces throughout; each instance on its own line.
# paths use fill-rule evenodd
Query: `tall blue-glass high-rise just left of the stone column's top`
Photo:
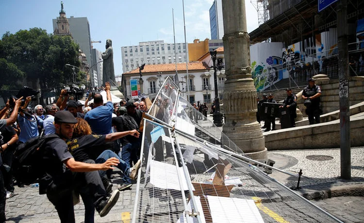
M 214 0 L 209 13 L 211 39 L 222 39 L 224 36 L 224 23 L 222 19 L 221 0 Z

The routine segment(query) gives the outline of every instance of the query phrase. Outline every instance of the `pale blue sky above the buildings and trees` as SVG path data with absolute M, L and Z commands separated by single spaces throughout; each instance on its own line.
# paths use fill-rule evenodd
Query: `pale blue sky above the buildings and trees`
M 115 74 L 122 73 L 121 47 L 141 41 L 173 43 L 172 8 L 176 42 L 184 42 L 182 0 L 64 0 L 66 16 L 87 17 L 94 48 L 105 51 L 105 40 L 113 40 Z M 209 9 L 213 0 L 184 0 L 187 42 L 211 38 Z M 59 16 L 60 0 L 1 0 L 0 35 L 39 27 L 53 33 L 52 19 Z M 248 32 L 258 27 L 258 16 L 246 0 Z

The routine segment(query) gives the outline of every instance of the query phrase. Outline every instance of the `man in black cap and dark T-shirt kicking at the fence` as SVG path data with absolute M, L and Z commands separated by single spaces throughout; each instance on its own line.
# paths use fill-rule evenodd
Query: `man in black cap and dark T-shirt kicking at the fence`
M 77 120 L 68 111 L 59 111 L 54 116 L 55 135 L 43 145 L 44 176 L 39 180 L 39 194 L 47 194 L 55 206 L 61 223 L 75 223 L 72 191 L 83 191 L 89 196 L 83 197 L 85 206 L 94 206 L 100 217 L 108 214 L 116 204 L 119 191 L 115 190 L 110 197 L 102 185 L 99 170 L 112 170 L 119 161 L 113 157 L 102 164 L 93 160 L 77 162 L 68 152 L 66 140 L 73 134 Z M 88 218 L 85 213 L 85 218 Z M 93 216 L 92 216 L 93 217 Z

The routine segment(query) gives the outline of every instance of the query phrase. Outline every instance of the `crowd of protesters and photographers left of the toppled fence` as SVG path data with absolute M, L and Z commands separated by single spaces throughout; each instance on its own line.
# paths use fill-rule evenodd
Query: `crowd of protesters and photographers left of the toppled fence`
M 99 93 L 88 94 L 85 103 L 74 101 L 62 90 L 55 103 L 30 106 L 31 97 L 10 99 L 0 111 L 0 223 L 5 222 L 5 202 L 14 196 L 12 160 L 21 144 L 44 137 L 39 193 L 46 194 L 62 223 L 75 222 L 73 206 L 81 196 L 85 223 L 94 222 L 116 204 L 119 191 L 131 189 L 141 166 L 139 159 L 141 102 L 112 103 L 106 83 L 106 103 Z M 93 99 L 93 102 L 88 103 Z M 10 104 L 15 104 L 11 107 Z M 112 191 L 111 175 L 117 167 L 123 183 Z

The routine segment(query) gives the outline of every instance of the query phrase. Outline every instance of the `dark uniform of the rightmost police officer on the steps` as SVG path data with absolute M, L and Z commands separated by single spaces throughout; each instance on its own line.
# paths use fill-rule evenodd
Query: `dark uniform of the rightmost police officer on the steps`
M 310 87 L 309 85 L 306 86 L 303 89 L 302 95 L 304 97 L 313 97 L 315 94 L 321 93 L 321 87 L 314 85 L 313 87 Z M 306 114 L 308 116 L 308 120 L 310 122 L 310 125 L 314 124 L 314 121 L 316 120 L 316 123 L 320 123 L 320 97 L 310 99 L 311 103 L 309 106 L 306 107 Z

